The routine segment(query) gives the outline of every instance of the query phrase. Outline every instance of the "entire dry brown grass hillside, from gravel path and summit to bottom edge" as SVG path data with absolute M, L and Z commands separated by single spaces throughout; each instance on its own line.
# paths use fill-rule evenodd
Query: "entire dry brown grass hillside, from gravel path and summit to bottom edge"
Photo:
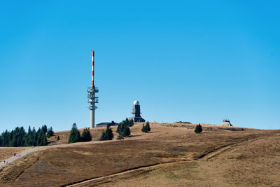
M 280 131 L 141 123 L 117 141 L 46 146 L 0 170 L 7 186 L 280 186 Z M 116 127 L 113 127 L 113 131 Z M 98 139 L 102 129 L 91 131 Z M 188 133 L 187 133 L 188 132 Z M 52 137 L 54 138 L 54 137 Z

